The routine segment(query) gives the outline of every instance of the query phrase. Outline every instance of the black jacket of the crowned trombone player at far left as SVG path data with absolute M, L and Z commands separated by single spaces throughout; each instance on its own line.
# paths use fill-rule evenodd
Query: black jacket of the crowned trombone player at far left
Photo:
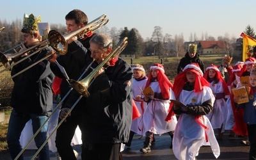
M 12 68 L 12 76 L 46 56 L 43 50 Z M 52 112 L 52 81 L 54 74 L 48 60 L 41 61 L 19 76 L 13 77 L 11 106 L 20 113 L 49 115 Z

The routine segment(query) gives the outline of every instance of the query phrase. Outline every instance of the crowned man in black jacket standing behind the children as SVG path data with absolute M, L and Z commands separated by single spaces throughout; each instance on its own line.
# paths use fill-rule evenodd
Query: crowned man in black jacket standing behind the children
M 196 52 L 197 45 L 196 44 L 189 44 L 189 50 L 186 52 L 185 56 L 181 58 L 180 63 L 177 68 L 177 74 L 182 72 L 184 67 L 190 63 L 198 63 L 200 69 L 204 73 L 204 63 L 199 58 L 199 54 Z

